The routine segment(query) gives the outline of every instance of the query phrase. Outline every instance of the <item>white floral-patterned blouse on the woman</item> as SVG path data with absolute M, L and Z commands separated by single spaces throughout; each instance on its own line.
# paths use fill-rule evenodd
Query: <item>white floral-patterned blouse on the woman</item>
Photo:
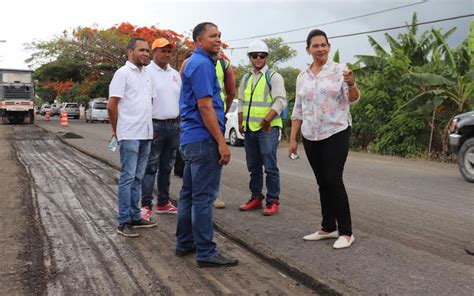
M 298 75 L 291 119 L 303 121 L 301 133 L 305 139 L 323 140 L 352 125 L 349 86 L 342 75 L 345 68 L 328 60 L 318 75 L 310 68 Z

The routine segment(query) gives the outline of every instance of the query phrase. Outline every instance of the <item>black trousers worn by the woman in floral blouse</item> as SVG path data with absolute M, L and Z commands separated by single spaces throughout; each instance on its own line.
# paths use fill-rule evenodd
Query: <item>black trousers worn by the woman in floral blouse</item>
M 339 230 L 339 235 L 352 235 L 351 211 L 342 180 L 349 152 L 351 128 L 321 141 L 303 138 L 304 150 L 319 185 L 322 230 Z

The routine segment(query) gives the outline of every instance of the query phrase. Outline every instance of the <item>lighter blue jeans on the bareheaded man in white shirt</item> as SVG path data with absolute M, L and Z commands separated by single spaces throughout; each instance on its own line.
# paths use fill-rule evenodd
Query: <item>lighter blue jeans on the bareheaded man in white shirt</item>
M 140 220 L 140 191 L 151 140 L 121 140 L 117 224 Z

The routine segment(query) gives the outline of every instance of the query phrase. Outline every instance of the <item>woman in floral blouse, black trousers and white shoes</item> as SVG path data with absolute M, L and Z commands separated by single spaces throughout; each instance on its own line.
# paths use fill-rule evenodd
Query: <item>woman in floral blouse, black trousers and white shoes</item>
M 289 155 L 297 154 L 301 129 L 304 150 L 319 186 L 323 220 L 321 229 L 303 239 L 337 238 L 333 247 L 342 249 L 354 242 L 342 174 L 352 125 L 349 103 L 356 102 L 360 92 L 352 71 L 328 59 L 331 45 L 326 33 L 311 31 L 306 45 L 313 63 L 296 81 Z

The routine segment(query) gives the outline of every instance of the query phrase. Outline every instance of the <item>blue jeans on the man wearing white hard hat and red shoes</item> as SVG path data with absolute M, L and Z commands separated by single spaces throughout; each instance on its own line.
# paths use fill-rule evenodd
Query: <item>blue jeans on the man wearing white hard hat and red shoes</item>
M 265 167 L 267 204 L 280 198 L 280 171 L 277 166 L 278 138 L 280 128 L 272 127 L 269 134 L 259 130 L 245 132 L 245 157 L 250 172 L 249 188 L 253 197 L 264 198 L 263 169 Z

